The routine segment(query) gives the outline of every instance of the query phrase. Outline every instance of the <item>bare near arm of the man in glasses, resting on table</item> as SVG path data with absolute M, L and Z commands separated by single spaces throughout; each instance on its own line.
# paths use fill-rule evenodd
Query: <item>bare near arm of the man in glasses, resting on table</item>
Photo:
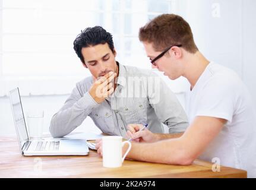
M 225 119 L 197 116 L 182 137 L 156 143 L 132 143 L 128 158 L 144 162 L 191 164 L 222 130 Z

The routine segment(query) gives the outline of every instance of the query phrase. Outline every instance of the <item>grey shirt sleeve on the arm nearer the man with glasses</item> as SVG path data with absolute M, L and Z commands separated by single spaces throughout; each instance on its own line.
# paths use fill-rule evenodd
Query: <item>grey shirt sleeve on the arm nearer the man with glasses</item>
M 184 132 L 188 118 L 181 103 L 162 78 L 156 74 L 153 76 L 153 82 L 148 83 L 148 99 L 157 118 L 168 126 L 169 133 Z

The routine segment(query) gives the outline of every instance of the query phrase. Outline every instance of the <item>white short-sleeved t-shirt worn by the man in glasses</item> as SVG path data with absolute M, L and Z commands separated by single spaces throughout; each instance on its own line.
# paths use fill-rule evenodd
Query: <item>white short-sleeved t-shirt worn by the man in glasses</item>
M 190 94 L 188 119 L 211 116 L 227 123 L 199 159 L 244 169 L 256 178 L 256 114 L 251 96 L 238 75 L 210 62 Z

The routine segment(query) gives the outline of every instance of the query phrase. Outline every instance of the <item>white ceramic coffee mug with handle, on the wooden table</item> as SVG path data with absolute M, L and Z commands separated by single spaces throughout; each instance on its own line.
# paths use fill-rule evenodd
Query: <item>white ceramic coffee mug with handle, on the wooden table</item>
M 126 153 L 122 157 L 122 147 L 127 143 L 129 145 Z M 122 142 L 121 136 L 106 136 L 102 137 L 102 154 L 104 167 L 120 167 L 124 162 L 125 157 L 131 150 L 129 141 Z

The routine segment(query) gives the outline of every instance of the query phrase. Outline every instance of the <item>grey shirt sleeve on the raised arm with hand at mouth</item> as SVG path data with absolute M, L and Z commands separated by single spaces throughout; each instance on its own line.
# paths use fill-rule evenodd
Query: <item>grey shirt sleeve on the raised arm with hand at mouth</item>
M 53 115 L 49 128 L 50 134 L 55 138 L 64 137 L 81 125 L 97 106 L 99 104 L 90 96 L 89 91 L 81 96 L 78 88 L 75 87 L 64 106 Z

